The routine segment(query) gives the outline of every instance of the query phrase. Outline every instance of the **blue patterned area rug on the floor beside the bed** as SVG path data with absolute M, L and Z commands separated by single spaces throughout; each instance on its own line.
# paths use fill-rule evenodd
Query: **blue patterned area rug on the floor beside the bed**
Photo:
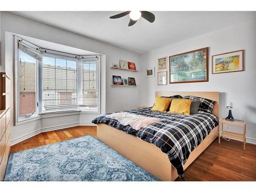
M 10 154 L 5 181 L 157 181 L 92 136 Z

